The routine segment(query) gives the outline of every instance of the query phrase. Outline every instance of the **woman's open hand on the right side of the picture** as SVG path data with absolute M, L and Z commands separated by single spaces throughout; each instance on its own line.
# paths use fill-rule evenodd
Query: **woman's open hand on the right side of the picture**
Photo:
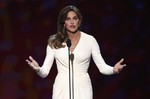
M 117 63 L 115 64 L 115 66 L 114 66 L 114 68 L 113 68 L 113 72 L 114 72 L 114 73 L 119 73 L 119 72 L 123 69 L 123 67 L 126 66 L 126 64 L 122 64 L 123 61 L 124 61 L 124 59 L 122 58 L 119 62 L 117 62 Z

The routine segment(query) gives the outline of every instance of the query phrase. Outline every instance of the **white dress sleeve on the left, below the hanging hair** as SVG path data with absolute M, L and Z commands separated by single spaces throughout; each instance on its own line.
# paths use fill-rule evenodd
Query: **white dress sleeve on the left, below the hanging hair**
M 54 52 L 52 48 L 49 45 L 47 45 L 46 57 L 45 57 L 44 63 L 40 67 L 40 70 L 37 72 L 37 74 L 41 76 L 42 78 L 45 78 L 49 74 L 49 71 L 52 67 L 53 62 L 54 62 Z

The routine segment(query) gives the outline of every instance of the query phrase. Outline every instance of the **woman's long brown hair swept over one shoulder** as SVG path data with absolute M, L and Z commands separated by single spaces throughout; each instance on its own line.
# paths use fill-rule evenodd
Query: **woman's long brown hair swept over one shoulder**
M 64 47 L 62 43 L 68 39 L 68 34 L 67 34 L 64 24 L 65 24 L 65 20 L 67 18 L 67 14 L 69 11 L 74 11 L 77 14 L 77 17 L 79 18 L 79 20 L 82 21 L 82 15 L 80 13 L 80 10 L 77 7 L 66 6 L 65 8 L 63 8 L 60 11 L 58 19 L 57 19 L 57 33 L 53 36 L 50 36 L 48 40 L 48 44 L 52 48 L 58 49 L 58 48 Z

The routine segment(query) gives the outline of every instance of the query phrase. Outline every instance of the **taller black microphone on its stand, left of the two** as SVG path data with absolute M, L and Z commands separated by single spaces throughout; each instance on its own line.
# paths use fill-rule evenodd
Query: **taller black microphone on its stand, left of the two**
M 70 47 L 71 47 L 71 40 L 67 40 L 67 47 L 68 47 L 68 62 L 69 62 L 69 99 L 71 99 L 71 79 L 70 79 Z

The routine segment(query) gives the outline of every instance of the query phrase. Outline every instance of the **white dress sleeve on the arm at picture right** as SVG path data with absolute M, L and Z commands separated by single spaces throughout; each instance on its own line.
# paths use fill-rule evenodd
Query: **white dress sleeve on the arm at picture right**
M 99 71 L 105 75 L 113 74 L 113 67 L 107 65 L 100 53 L 99 45 L 96 39 L 93 37 L 93 45 L 92 45 L 92 58 L 96 66 L 98 67 Z

